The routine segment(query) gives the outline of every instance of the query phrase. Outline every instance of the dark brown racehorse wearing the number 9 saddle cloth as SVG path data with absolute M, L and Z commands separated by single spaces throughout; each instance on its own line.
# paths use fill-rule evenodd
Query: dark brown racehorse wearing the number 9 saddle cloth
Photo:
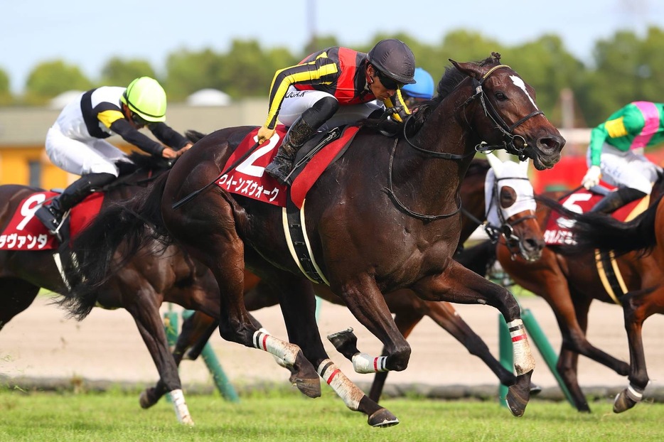
M 122 168 L 126 170 L 105 189 L 102 207 L 130 198 L 136 190 L 144 188 L 170 167 L 164 161 L 136 153 L 130 158 L 134 161 L 134 170 L 129 171 L 132 166 L 123 163 Z M 4 231 L 21 201 L 36 192 L 43 190 L 24 185 L 0 186 L 0 231 Z M 32 216 L 33 210 L 21 213 Z M 54 255 L 54 252 L 53 249 L 0 250 L 0 290 L 3 293 L 0 296 L 0 330 L 31 305 L 40 288 L 67 293 L 68 288 L 58 269 L 57 257 L 60 255 Z M 90 301 L 103 308 L 129 311 L 154 360 L 164 392 L 172 399 L 178 420 L 193 424 L 184 401 L 178 367 L 168 347 L 159 306 L 164 301 L 173 302 L 217 315 L 216 281 L 205 266 L 186 257 L 177 247 L 168 247 L 163 253 L 140 253 L 121 267 L 107 284 L 100 286 Z M 149 397 L 143 395 L 140 401 L 144 408 L 149 406 Z

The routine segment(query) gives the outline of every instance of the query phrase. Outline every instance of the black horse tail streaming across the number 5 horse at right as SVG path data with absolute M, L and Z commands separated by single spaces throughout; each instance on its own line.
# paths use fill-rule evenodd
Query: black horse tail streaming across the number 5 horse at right
M 628 252 L 650 253 L 657 239 L 655 237 L 655 215 L 661 197 L 628 222 L 621 222 L 609 215 L 587 212 L 579 215 L 565 210 L 564 215 L 574 219 L 572 233 L 576 244 L 561 247 L 563 253 L 579 254 L 592 249 L 612 250 L 616 255 Z M 562 207 L 562 206 L 561 206 Z

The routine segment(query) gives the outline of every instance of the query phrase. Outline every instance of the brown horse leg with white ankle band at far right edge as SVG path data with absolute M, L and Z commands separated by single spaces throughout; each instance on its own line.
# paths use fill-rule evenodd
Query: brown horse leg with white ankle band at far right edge
M 643 399 L 643 392 L 648 386 L 649 378 L 641 331 L 643 321 L 648 316 L 653 313 L 664 313 L 663 295 L 664 291 L 654 291 L 641 295 L 628 294 L 622 299 L 629 344 L 629 386 L 616 396 L 615 413 L 627 411 Z

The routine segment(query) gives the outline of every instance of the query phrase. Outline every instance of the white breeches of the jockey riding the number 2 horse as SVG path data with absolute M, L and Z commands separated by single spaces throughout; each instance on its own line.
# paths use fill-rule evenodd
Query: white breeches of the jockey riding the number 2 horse
M 282 108 L 279 109 L 279 122 L 291 126 L 302 112 L 314 106 L 314 103 L 323 97 L 333 97 L 333 95 L 319 90 L 296 90 L 293 86 L 289 87 L 282 102 Z M 376 109 L 384 109 L 384 107 L 382 104 L 377 104 L 376 101 L 341 105 L 333 117 L 328 119 L 319 129 L 327 131 L 344 124 L 353 124 L 368 117 Z

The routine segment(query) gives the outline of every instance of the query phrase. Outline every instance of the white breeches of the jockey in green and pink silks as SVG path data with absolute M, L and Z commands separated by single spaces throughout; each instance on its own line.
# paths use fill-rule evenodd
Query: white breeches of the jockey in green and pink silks
M 650 195 L 653 183 L 658 178 L 658 172 L 662 171 L 660 166 L 652 163 L 642 153 L 643 149 L 631 151 L 620 151 L 610 144 L 604 143 L 601 147 L 602 180 L 616 187 L 628 187 Z M 590 166 L 590 150 L 587 155 L 587 163 Z

